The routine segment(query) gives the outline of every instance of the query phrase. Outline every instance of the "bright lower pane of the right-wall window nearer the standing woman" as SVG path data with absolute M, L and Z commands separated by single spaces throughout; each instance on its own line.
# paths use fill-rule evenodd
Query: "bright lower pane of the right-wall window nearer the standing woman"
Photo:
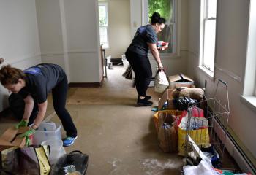
M 203 66 L 214 71 L 216 20 L 206 20 L 203 42 Z

